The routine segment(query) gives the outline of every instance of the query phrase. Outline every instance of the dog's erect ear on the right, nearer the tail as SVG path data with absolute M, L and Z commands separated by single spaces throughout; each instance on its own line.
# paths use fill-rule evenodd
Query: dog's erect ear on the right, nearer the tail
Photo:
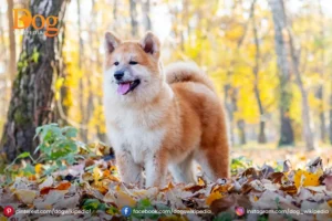
M 141 45 L 143 50 L 154 56 L 159 59 L 160 55 L 160 42 L 159 39 L 152 32 L 147 32 L 145 36 L 141 40 Z

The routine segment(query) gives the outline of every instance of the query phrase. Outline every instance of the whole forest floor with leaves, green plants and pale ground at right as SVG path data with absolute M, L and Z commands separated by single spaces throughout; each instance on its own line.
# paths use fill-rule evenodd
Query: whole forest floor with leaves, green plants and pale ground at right
M 24 152 L 18 157 L 21 164 L 0 175 L 0 220 L 332 219 L 329 148 L 234 148 L 229 179 L 141 189 L 120 181 L 115 159 L 105 157 L 106 146 L 77 143 L 69 128 L 44 127 L 39 133 L 44 140 L 40 151 L 52 160 L 38 162 Z M 60 143 L 71 152 L 56 158 L 65 151 Z

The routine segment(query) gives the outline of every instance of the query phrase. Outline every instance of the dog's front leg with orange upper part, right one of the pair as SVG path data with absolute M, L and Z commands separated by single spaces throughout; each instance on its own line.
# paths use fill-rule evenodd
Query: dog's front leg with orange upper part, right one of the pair
M 166 185 L 168 157 L 162 151 L 148 157 L 145 164 L 146 187 L 164 187 Z

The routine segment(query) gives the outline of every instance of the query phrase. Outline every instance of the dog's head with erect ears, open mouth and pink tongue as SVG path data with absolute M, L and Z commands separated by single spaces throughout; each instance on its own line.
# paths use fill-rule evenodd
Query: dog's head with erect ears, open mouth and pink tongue
M 157 94 L 163 83 L 159 40 L 148 32 L 141 41 L 122 42 L 105 34 L 104 90 L 118 101 L 139 102 Z

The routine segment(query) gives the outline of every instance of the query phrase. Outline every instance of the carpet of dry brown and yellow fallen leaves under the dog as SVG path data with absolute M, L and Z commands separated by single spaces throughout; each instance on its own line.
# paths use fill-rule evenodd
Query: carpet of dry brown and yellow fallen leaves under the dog
M 113 159 L 90 158 L 49 176 L 40 176 L 44 166 L 35 165 L 34 175 L 2 186 L 0 209 L 12 207 L 11 218 L 19 220 L 48 221 L 332 219 L 332 171 L 321 158 L 298 170 L 284 161 L 280 171 L 267 165 L 240 168 L 231 179 L 169 182 L 163 189 L 122 183 L 114 165 Z M 125 206 L 145 212 L 124 218 Z

